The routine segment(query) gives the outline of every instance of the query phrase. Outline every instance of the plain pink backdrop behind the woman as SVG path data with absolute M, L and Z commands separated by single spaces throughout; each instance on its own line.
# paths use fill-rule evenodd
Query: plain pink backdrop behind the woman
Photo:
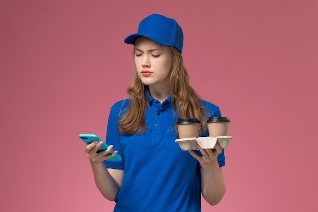
M 227 193 L 202 211 L 317 211 L 316 0 L 2 0 L 0 211 L 112 211 L 78 134 L 105 138 L 123 39 L 152 13 L 179 22 L 193 86 L 232 120 Z

